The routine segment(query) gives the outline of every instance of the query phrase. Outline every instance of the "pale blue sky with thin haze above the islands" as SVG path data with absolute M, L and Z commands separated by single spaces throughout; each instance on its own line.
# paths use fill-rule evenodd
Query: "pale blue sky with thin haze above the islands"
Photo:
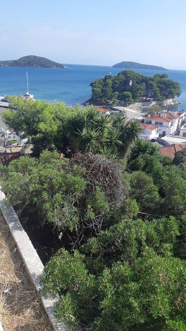
M 186 70 L 185 0 L 0 1 L 0 60 L 135 61 Z

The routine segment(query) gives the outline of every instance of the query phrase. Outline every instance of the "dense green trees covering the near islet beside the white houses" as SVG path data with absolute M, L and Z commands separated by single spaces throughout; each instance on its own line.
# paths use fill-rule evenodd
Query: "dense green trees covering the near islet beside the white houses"
M 125 104 L 137 101 L 140 96 L 154 100 L 164 100 L 180 96 L 180 84 L 168 79 L 168 75 L 146 77 L 131 70 L 120 72 L 117 76 L 106 75 L 92 83 L 92 103 Z

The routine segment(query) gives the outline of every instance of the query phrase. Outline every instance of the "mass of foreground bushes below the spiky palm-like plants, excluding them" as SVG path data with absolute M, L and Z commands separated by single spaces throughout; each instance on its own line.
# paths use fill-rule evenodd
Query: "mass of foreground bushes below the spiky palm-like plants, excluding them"
M 186 329 L 184 159 L 134 151 L 127 165 L 45 151 L 0 167 L 8 202 L 62 232 L 42 282 L 75 329 Z

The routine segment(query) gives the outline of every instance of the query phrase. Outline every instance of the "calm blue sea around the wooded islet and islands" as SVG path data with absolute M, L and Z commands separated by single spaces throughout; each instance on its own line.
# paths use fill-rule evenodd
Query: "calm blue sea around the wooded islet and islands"
M 108 66 L 70 65 L 69 69 L 0 67 L 0 95 L 24 94 L 27 90 L 26 71 L 29 77 L 29 89 L 35 99 L 64 101 L 75 105 L 90 98 L 89 84 L 110 72 L 117 75 L 124 69 Z M 166 73 L 170 79 L 181 84 L 182 94 L 178 98 L 180 109 L 186 110 L 186 71 L 184 70 L 135 70 L 145 76 Z M 175 108 L 175 107 L 174 107 Z

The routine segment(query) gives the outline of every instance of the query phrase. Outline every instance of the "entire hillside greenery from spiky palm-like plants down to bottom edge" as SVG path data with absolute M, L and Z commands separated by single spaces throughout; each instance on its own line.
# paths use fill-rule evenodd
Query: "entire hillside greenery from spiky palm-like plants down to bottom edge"
M 10 101 L 6 123 L 38 156 L 1 165 L 1 185 L 27 222 L 34 212 L 58 230 L 41 279 L 57 318 L 70 330 L 185 331 L 185 150 L 163 158 L 137 121 L 92 107 Z

